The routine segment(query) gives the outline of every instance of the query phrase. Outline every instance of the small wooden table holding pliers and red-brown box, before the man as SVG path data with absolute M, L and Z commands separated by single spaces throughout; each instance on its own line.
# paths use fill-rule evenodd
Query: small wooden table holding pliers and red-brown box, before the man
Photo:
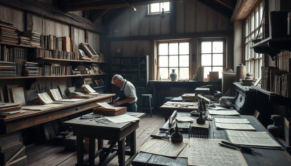
M 92 114 L 92 113 L 90 113 Z M 88 114 L 88 115 L 90 115 Z M 141 118 L 145 113 L 131 113 L 125 114 L 134 115 L 134 117 Z M 76 166 L 95 165 L 95 158 L 99 156 L 100 163 L 98 165 L 107 165 L 113 158 L 118 156 L 118 163 L 120 166 L 129 166 L 134 157 L 136 157 L 136 132 L 139 128 L 139 121 L 126 122 L 119 124 L 102 124 L 90 119 L 75 118 L 64 122 L 65 125 L 72 126 L 73 135 L 77 136 L 77 164 Z M 130 134 L 130 150 L 125 150 L 124 140 Z M 84 158 L 83 140 L 84 137 L 89 138 L 89 156 Z M 98 150 L 95 151 L 95 139 L 98 141 Z M 109 147 L 103 147 L 103 140 L 112 140 L 113 143 Z M 114 148 L 118 142 L 118 148 Z M 111 153 L 111 154 L 110 154 Z M 125 160 L 125 155 L 129 156 Z M 88 161 L 88 163 L 87 163 Z

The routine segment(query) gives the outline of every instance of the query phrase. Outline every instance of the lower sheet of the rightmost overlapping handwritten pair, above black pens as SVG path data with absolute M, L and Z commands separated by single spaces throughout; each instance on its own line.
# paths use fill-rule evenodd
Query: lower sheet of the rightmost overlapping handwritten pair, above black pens
M 264 147 L 281 147 L 273 138 L 250 138 L 250 137 L 236 137 L 228 136 L 231 143 L 239 145 L 253 145 Z

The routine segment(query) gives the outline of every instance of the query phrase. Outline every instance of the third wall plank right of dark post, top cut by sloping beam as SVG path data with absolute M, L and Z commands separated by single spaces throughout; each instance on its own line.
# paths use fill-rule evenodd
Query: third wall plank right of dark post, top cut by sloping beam
M 196 32 L 207 31 L 207 7 L 196 2 Z

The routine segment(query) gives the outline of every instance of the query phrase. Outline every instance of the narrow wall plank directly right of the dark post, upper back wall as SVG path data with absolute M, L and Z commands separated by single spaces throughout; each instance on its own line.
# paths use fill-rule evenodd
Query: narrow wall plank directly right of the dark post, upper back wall
M 176 2 L 176 33 L 185 32 L 185 2 Z

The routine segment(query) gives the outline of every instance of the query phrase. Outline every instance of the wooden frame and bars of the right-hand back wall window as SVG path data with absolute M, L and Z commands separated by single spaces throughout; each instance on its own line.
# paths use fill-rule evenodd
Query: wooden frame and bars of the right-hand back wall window
M 223 52 L 222 52 L 222 66 L 212 65 L 213 63 L 213 54 L 220 54 L 220 53 L 213 53 L 212 43 L 215 41 L 222 41 L 223 42 Z M 202 53 L 202 42 L 211 42 L 211 53 Z M 211 71 L 213 67 L 222 67 L 225 69 L 225 52 L 226 52 L 226 38 L 209 38 L 209 39 L 199 39 L 199 67 L 211 67 Z M 202 54 L 211 54 L 211 66 L 203 66 L 202 65 Z M 207 78 L 204 78 L 207 80 Z

